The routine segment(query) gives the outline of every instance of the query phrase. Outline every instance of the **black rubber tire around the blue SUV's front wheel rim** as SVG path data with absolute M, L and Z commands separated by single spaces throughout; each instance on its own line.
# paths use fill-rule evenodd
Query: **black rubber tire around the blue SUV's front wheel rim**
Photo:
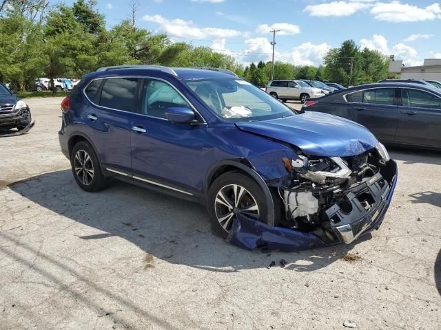
M 232 196 L 227 195 L 229 189 L 228 187 L 232 185 L 237 185 L 245 188 L 245 192 L 243 192 L 238 206 L 234 207 L 235 210 L 230 211 L 230 209 L 227 208 L 227 206 L 225 206 L 223 203 L 216 202 L 216 198 L 218 197 L 220 190 L 223 190 L 223 195 L 227 197 L 229 203 L 231 203 L 231 206 L 234 206 L 234 199 L 231 199 Z M 252 198 L 249 198 L 248 194 L 251 195 Z M 242 208 L 242 210 L 246 210 L 250 206 L 253 207 L 254 201 L 258 206 L 258 216 L 256 216 L 256 214 L 254 213 L 255 211 L 241 212 L 239 210 L 240 208 Z M 254 179 L 238 171 L 227 172 L 223 175 L 220 175 L 220 177 L 214 180 L 212 186 L 210 186 L 209 188 L 207 208 L 209 219 L 212 223 L 212 232 L 214 232 L 214 234 L 216 234 L 217 236 L 222 237 L 223 239 L 227 238 L 237 212 L 241 212 L 248 217 L 253 217 L 256 220 L 263 222 L 265 222 L 268 218 L 267 199 L 265 198 L 265 194 L 263 193 L 262 189 L 257 184 L 257 182 L 254 181 Z M 226 212 L 226 214 L 229 214 L 229 212 L 234 213 L 231 219 L 227 219 L 223 223 L 223 225 L 225 225 L 226 227 L 226 230 L 223 228 L 223 225 L 221 225 L 220 221 L 218 221 L 218 217 L 222 219 L 222 217 L 225 215 L 223 212 Z M 229 221 L 229 223 L 227 223 L 227 221 Z

